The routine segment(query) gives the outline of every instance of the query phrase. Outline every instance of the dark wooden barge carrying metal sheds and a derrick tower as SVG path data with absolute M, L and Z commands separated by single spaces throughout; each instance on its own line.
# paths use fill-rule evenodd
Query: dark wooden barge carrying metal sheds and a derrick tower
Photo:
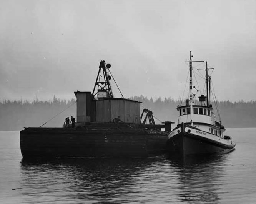
M 93 93 L 74 92 L 75 124 L 26 127 L 20 131 L 23 158 L 148 157 L 164 153 L 171 122 L 155 124 L 152 111 L 144 109 L 140 114 L 141 102 L 126 99 L 122 94 L 122 98 L 115 98 L 110 86 L 110 67 L 104 60 L 100 62 Z

